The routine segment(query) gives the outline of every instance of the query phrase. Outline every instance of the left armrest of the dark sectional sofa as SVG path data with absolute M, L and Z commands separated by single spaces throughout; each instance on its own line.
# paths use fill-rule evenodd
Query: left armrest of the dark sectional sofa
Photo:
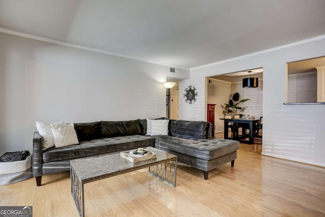
M 42 176 L 43 138 L 39 132 L 32 139 L 32 176 Z

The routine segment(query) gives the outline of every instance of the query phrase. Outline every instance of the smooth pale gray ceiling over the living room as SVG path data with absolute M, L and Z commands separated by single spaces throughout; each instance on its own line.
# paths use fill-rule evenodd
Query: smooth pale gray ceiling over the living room
M 0 0 L 0 28 L 190 69 L 325 35 L 324 0 Z

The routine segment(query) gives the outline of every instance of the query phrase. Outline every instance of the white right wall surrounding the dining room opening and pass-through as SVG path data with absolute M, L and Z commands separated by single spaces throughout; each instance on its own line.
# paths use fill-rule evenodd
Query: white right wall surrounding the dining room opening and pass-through
M 206 119 L 205 77 L 263 67 L 263 151 L 274 156 L 325 166 L 325 105 L 283 105 L 286 63 L 325 55 L 325 37 L 304 41 L 190 70 L 180 82 L 197 88 L 198 101 L 180 100 L 180 119 Z

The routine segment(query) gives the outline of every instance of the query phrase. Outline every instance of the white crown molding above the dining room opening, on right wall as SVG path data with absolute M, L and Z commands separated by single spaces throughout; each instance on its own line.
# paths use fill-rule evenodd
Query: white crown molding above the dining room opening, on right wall
M 189 70 L 191 71 L 191 70 L 211 67 L 211 66 L 215 66 L 215 65 L 219 65 L 219 64 L 223 64 L 223 63 L 228 63 L 230 61 L 235 61 L 235 60 L 238 60 L 238 59 L 243 59 L 243 58 L 247 58 L 247 57 L 250 57 L 250 56 L 255 56 L 255 55 L 259 55 L 259 54 L 263 54 L 263 53 L 269 53 L 269 52 L 273 52 L 273 51 L 276 51 L 276 50 L 282 50 L 282 49 L 285 49 L 285 48 L 294 47 L 294 46 L 302 45 L 302 44 L 307 44 L 307 43 L 311 43 L 311 42 L 315 42 L 315 41 L 319 41 L 319 40 L 323 40 L 323 39 L 325 39 L 325 35 L 317 36 L 317 37 L 310 38 L 310 39 L 305 39 L 305 40 L 302 40 L 302 41 L 298 41 L 298 42 L 294 42 L 294 43 L 290 43 L 290 44 L 286 44 L 286 45 L 281 45 L 281 46 L 270 48 L 270 49 L 267 49 L 267 50 L 262 50 L 262 51 L 257 51 L 257 52 L 254 52 L 254 53 L 249 53 L 249 54 L 242 55 L 242 56 L 237 56 L 237 57 L 230 58 L 230 59 L 217 61 L 215 63 L 211 63 L 211 64 L 207 64 L 207 65 L 193 67 L 193 68 L 190 68 Z

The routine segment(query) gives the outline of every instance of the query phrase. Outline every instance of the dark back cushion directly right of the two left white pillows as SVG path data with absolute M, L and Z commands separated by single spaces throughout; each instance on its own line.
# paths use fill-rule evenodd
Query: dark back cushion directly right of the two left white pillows
M 74 123 L 74 126 L 79 142 L 101 138 L 101 126 L 99 121 L 89 123 Z

